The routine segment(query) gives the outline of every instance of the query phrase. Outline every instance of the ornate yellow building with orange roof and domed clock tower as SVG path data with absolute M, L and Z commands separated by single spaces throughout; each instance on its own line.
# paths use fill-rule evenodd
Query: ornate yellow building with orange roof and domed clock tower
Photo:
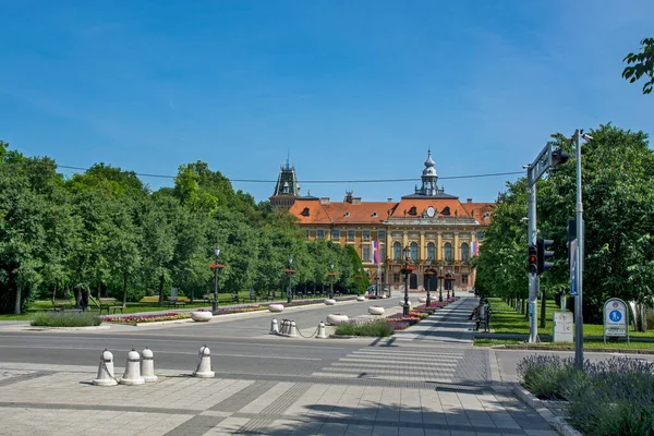
M 427 270 L 449 274 L 455 289 L 472 288 L 471 259 L 483 241 L 495 203 L 473 203 L 471 198 L 462 203 L 438 189 L 431 152 L 424 166 L 422 186 L 399 202 L 390 198 L 363 202 L 352 192 L 347 192 L 342 202 L 331 202 L 327 197 L 299 196 L 299 191 L 289 193 L 281 202 L 279 186 L 284 183 L 281 173 L 276 201 L 292 203 L 289 211 L 298 218 L 307 239 L 354 247 L 371 280 L 403 289 L 404 276 L 400 269 L 409 263 L 415 267 L 408 278 L 411 290 L 436 289 L 437 279 Z M 291 195 L 293 198 L 289 201 Z

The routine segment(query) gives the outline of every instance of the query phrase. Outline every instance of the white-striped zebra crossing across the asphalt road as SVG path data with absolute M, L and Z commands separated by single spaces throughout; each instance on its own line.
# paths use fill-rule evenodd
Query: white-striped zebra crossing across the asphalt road
M 405 349 L 370 347 L 353 351 L 313 373 L 322 377 L 374 378 L 405 382 L 452 382 L 464 364 L 463 349 Z

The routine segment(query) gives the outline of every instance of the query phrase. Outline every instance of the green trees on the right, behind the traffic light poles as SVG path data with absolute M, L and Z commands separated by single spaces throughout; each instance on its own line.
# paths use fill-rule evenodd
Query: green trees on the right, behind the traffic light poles
M 652 303 L 654 295 L 654 154 L 647 135 L 614 125 L 591 132 L 582 150 L 584 246 L 584 318 L 601 319 L 610 296 Z M 554 140 L 570 152 L 570 160 L 537 182 L 538 237 L 555 240 L 555 267 L 541 276 L 541 288 L 569 289 L 567 223 L 574 218 L 576 165 L 570 141 Z M 509 183 L 504 201 L 485 233 L 476 287 L 485 293 L 521 296 L 526 282 L 526 181 Z

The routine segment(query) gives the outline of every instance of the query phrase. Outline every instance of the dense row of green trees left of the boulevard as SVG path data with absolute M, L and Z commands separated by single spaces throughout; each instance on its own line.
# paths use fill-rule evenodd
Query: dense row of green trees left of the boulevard
M 64 179 L 47 157 L 25 157 L 0 141 L 0 313 L 72 289 L 136 301 L 171 287 L 193 298 L 213 289 L 214 246 L 220 289 L 286 289 L 328 283 L 354 292 L 361 259 L 352 250 L 307 242 L 295 218 L 256 204 L 202 161 L 179 167 L 173 187 L 150 192 L 136 174 L 97 164 Z

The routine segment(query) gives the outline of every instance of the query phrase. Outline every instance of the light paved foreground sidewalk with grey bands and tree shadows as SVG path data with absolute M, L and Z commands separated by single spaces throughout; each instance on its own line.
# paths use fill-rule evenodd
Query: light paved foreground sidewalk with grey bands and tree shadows
M 415 351 L 414 351 L 415 352 Z M 2 435 L 556 435 L 502 386 L 158 372 L 96 387 L 96 368 L 0 365 Z M 122 368 L 117 368 L 121 374 Z

